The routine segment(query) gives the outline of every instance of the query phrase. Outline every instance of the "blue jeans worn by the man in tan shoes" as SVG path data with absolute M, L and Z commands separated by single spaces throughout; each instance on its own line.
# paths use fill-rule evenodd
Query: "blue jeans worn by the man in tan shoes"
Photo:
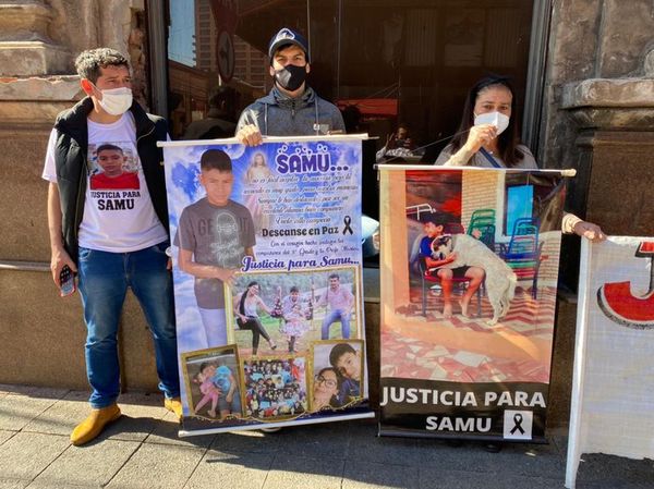
M 128 288 L 141 303 L 155 342 L 159 389 L 180 395 L 172 278 L 166 269 L 168 243 L 138 252 L 80 248 L 80 294 L 86 322 L 86 375 L 92 407 L 107 407 L 120 392 L 118 325 Z

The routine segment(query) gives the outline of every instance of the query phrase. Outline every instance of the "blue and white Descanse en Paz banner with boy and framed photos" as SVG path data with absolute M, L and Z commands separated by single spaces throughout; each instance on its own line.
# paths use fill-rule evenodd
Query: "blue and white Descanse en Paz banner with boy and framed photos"
M 180 436 L 373 416 L 361 140 L 160 143 Z

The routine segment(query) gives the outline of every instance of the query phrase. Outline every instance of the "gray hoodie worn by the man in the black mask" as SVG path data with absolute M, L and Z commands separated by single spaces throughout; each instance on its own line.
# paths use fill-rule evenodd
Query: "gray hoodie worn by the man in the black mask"
M 277 86 L 243 110 L 237 132 L 254 124 L 264 136 L 311 136 L 346 131 L 338 108 L 318 97 L 311 87 L 298 98 L 282 94 Z

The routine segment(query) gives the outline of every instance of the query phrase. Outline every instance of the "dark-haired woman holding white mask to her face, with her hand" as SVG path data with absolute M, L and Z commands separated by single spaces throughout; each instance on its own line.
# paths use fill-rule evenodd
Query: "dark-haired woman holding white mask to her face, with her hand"
M 513 88 L 505 76 L 491 75 L 469 90 L 457 134 L 436 159 L 444 167 L 521 168 L 538 166 L 526 146 L 520 144 Z M 606 240 L 602 229 L 566 212 L 561 230 L 593 242 Z

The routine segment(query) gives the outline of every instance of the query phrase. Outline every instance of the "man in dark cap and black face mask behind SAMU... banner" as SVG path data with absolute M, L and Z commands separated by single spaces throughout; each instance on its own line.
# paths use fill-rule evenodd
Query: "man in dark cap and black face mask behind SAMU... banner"
M 270 39 L 268 57 L 275 86 L 241 113 L 235 137 L 246 146 L 257 146 L 262 136 L 343 133 L 338 108 L 306 85 L 311 71 L 306 39 L 284 27 Z

